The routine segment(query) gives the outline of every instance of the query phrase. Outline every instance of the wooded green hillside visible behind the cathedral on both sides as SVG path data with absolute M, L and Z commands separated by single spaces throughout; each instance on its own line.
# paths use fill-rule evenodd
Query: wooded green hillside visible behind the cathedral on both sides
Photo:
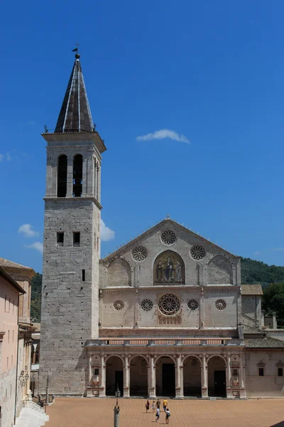
M 33 322 L 40 322 L 41 282 L 42 275 L 36 273 L 31 282 L 31 319 L 33 319 Z M 241 258 L 241 283 L 244 285 L 259 283 L 263 289 L 267 288 L 271 283 L 284 283 L 284 267 L 268 265 L 261 261 L 251 260 L 251 258 Z M 278 297 L 277 299 L 279 300 Z M 268 306 L 266 298 L 264 300 L 264 308 L 268 311 L 272 310 Z M 275 307 L 276 309 L 279 310 L 278 307 Z

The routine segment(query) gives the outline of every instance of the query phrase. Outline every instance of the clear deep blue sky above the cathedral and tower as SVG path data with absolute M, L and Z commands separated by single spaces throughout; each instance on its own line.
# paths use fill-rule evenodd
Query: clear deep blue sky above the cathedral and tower
M 2 258 L 41 271 L 40 133 L 55 127 L 78 41 L 108 149 L 102 218 L 114 238 L 102 255 L 170 214 L 232 253 L 284 265 L 283 1 L 31 0 L 1 9 Z

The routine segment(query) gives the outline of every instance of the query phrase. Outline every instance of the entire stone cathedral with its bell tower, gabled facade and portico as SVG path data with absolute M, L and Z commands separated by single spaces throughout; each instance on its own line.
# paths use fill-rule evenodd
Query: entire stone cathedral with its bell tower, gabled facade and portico
M 79 55 L 47 142 L 40 391 L 284 396 L 284 342 L 261 327 L 240 258 L 168 216 L 100 259 L 101 162 Z

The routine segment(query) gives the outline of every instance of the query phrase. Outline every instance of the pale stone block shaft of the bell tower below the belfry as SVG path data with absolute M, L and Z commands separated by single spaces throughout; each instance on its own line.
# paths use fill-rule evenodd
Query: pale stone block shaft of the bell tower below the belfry
M 98 336 L 100 211 L 93 201 L 45 201 L 40 393 L 84 394 L 86 339 Z M 80 231 L 80 246 L 73 232 Z M 58 245 L 57 232 L 64 232 Z M 83 280 L 83 272 L 85 280 Z

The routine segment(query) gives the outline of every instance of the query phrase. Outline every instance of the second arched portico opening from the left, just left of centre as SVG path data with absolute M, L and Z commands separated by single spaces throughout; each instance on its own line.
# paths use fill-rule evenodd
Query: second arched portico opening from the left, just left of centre
M 148 363 L 145 357 L 135 356 L 130 361 L 130 396 L 148 396 Z

